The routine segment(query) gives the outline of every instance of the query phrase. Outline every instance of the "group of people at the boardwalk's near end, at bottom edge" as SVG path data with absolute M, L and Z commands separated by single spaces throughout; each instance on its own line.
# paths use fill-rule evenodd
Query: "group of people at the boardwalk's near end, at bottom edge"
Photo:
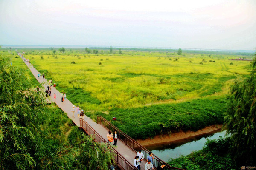
M 145 170 L 153 170 L 154 166 L 153 166 L 152 162 L 153 162 L 154 156 L 153 156 L 152 152 L 149 152 L 148 154 L 149 155 L 147 157 L 147 162 L 145 164 Z M 140 170 L 140 164 L 143 159 L 144 159 L 144 154 L 143 154 L 143 152 L 141 152 L 141 150 L 139 150 L 137 152 L 137 155 L 134 158 L 134 167 L 137 170 Z M 165 170 L 165 166 L 166 166 L 166 164 L 163 163 L 157 167 L 157 170 Z

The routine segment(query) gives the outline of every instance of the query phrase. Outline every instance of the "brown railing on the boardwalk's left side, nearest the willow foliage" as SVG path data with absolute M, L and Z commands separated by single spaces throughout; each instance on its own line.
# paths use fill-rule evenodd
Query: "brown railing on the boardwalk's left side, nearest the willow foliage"
M 80 128 L 82 128 L 88 135 L 94 136 L 95 142 L 105 142 L 108 143 L 102 136 L 97 133 L 93 127 L 91 127 L 84 119 L 80 118 Z M 119 165 L 123 170 L 134 170 L 134 166 L 130 164 L 119 152 L 117 152 L 113 147 L 110 149 L 113 153 L 114 160 L 116 164 Z

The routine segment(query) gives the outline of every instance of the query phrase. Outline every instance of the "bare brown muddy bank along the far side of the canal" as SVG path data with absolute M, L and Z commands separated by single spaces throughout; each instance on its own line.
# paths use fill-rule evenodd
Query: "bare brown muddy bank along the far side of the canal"
M 212 126 L 207 126 L 204 127 L 203 129 L 200 129 L 196 132 L 193 131 L 180 131 L 177 133 L 172 133 L 170 135 L 157 135 L 153 139 L 145 139 L 145 140 L 137 140 L 141 145 L 144 147 L 152 146 L 154 144 L 165 144 L 165 143 L 175 143 L 175 142 L 180 142 L 181 140 L 184 139 L 189 139 L 201 135 L 206 135 L 208 133 L 214 133 L 217 131 L 220 131 L 222 128 L 222 125 L 212 125 Z

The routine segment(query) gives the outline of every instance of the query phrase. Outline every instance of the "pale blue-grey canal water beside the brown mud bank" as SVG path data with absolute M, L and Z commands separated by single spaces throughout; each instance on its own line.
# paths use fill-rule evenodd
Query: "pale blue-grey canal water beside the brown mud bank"
M 192 153 L 193 151 L 201 150 L 204 147 L 207 139 L 218 139 L 219 136 L 224 138 L 226 131 L 210 133 L 207 135 L 195 137 L 192 139 L 185 139 L 177 143 L 165 143 L 154 146 L 146 147 L 150 150 L 155 156 L 162 159 L 165 162 L 168 162 L 169 159 L 178 158 L 181 155 L 186 156 Z

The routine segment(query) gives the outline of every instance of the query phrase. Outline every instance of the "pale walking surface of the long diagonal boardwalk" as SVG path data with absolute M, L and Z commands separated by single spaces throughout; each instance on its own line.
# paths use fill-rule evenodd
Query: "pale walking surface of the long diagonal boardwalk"
M 20 56 L 22 58 L 22 56 Z M 24 62 L 24 59 L 23 59 Z M 38 82 L 40 82 L 42 84 L 42 86 L 44 87 L 44 89 L 41 89 L 42 91 L 46 91 L 47 89 L 47 83 L 49 82 L 47 79 L 38 79 L 38 74 L 39 73 L 33 66 L 32 64 L 29 64 L 29 62 L 25 62 L 25 64 L 28 66 L 28 68 L 30 69 L 30 71 L 32 72 L 32 74 L 35 76 L 35 78 L 38 80 Z M 54 83 L 54 82 L 53 82 Z M 78 126 L 80 127 L 80 122 L 79 122 L 79 117 L 77 116 L 76 110 L 75 110 L 75 117 L 72 117 L 72 106 L 73 104 L 66 99 L 65 102 L 61 102 L 61 93 L 54 87 L 51 88 L 50 90 L 51 96 L 49 98 L 50 101 L 55 102 L 56 105 L 58 105 L 59 108 L 61 108 L 65 113 L 67 113 L 67 116 L 72 119 L 72 121 Z M 56 99 L 54 99 L 53 94 L 56 93 Z M 68 94 L 67 94 L 68 96 Z M 75 107 L 76 108 L 76 107 Z M 102 125 L 97 124 L 96 122 L 94 122 L 92 119 L 90 119 L 87 116 L 83 117 L 84 121 L 86 121 L 91 127 L 93 127 L 93 129 L 99 133 L 100 136 L 102 136 L 103 138 L 105 138 L 107 140 L 107 133 L 108 133 L 108 129 L 104 128 Z M 112 142 L 113 144 L 113 142 Z M 117 147 L 115 148 L 115 150 L 117 152 L 119 152 L 127 161 L 129 161 L 131 163 L 131 165 L 134 165 L 134 157 L 136 156 L 136 152 L 131 150 L 130 147 L 128 147 L 124 142 L 122 142 L 121 140 L 117 141 Z M 144 170 L 145 168 L 145 159 L 141 162 L 141 169 Z

